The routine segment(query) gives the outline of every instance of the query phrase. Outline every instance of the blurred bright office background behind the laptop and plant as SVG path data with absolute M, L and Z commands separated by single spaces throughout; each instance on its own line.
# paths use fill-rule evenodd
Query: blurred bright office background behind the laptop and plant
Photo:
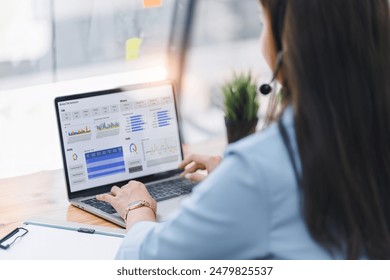
M 0 178 L 62 168 L 61 95 L 173 79 L 184 142 L 224 139 L 221 86 L 271 76 L 261 18 L 258 0 L 1 0 Z

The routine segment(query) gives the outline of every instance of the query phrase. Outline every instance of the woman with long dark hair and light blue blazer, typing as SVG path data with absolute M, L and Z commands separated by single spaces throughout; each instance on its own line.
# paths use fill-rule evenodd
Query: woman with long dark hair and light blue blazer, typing
M 230 146 L 165 223 L 141 183 L 100 196 L 127 216 L 119 258 L 390 258 L 388 1 L 261 3 L 280 120 Z

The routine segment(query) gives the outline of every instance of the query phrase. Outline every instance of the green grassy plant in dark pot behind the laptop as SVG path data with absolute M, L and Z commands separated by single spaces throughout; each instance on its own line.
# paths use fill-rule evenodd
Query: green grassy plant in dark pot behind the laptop
M 256 131 L 260 102 L 251 73 L 234 74 L 223 86 L 225 124 L 228 143 L 233 143 Z

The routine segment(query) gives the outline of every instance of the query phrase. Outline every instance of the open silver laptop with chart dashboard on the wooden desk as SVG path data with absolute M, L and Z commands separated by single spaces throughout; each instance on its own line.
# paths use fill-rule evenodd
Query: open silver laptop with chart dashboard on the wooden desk
M 171 81 L 55 99 L 68 200 L 125 227 L 110 204 L 95 199 L 130 180 L 145 183 L 164 220 L 191 193 Z

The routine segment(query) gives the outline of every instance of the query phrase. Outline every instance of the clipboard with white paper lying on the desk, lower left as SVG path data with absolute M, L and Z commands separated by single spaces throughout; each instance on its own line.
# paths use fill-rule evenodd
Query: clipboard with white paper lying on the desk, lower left
M 34 218 L 21 226 L 28 230 L 0 260 L 112 260 L 126 231 L 72 222 Z

